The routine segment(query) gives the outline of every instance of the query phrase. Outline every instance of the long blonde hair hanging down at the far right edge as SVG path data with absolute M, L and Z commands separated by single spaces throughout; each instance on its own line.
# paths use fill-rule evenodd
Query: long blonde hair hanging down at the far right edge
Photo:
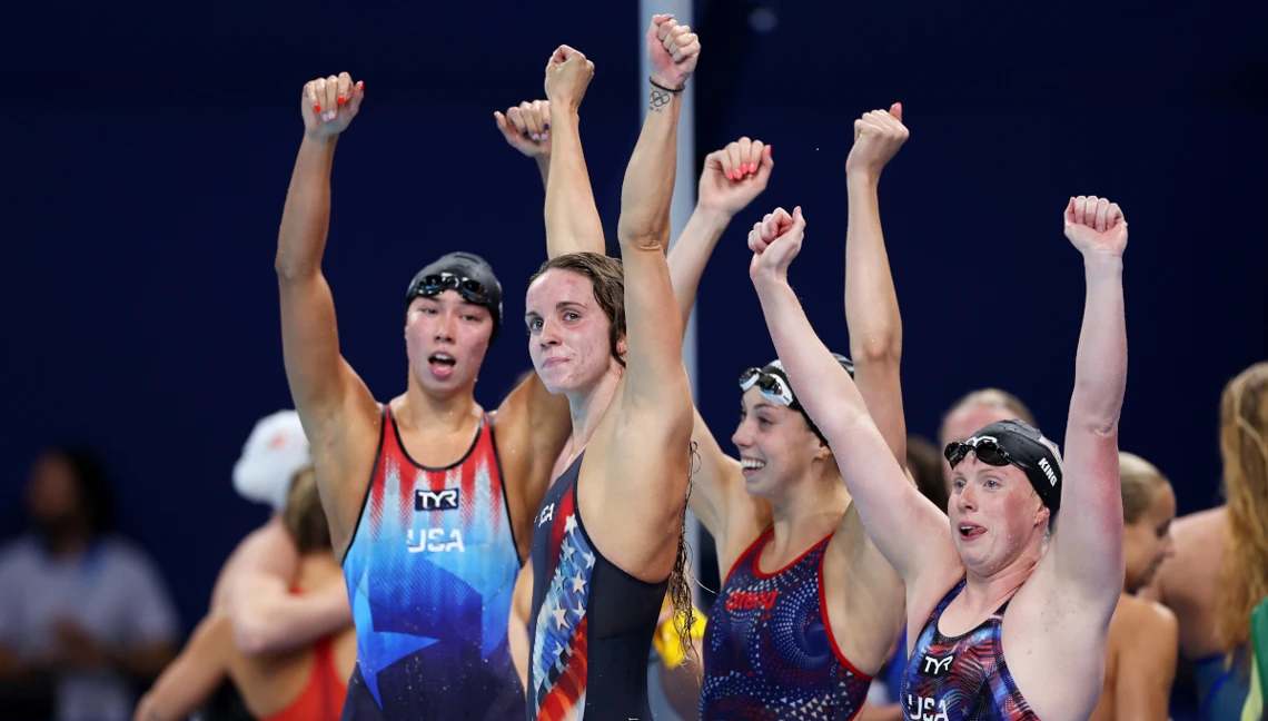
M 1227 499 L 1215 635 L 1229 652 L 1250 637 L 1250 611 L 1268 597 L 1268 363 L 1224 387 L 1220 456 Z

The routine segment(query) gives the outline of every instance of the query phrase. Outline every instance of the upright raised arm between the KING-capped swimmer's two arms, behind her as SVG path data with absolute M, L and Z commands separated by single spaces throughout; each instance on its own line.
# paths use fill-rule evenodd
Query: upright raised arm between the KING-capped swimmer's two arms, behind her
M 872 110 L 855 121 L 855 146 L 846 159 L 850 225 L 846 230 L 846 325 L 855 382 L 885 444 L 907 466 L 903 418 L 903 319 L 880 230 L 876 187 L 881 170 L 907 141 L 903 107 Z

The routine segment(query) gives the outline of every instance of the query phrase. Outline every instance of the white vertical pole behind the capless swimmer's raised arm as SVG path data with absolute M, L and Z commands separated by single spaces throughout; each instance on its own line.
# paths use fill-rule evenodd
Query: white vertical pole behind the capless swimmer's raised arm
M 647 27 L 652 22 L 652 15 L 672 14 L 680 24 L 691 25 L 691 0 L 639 0 L 638 24 L 638 55 L 639 55 L 639 121 L 647 117 L 647 80 L 652 75 L 652 69 L 647 61 Z M 682 228 L 687 226 L 687 218 L 696 207 L 696 113 L 694 79 L 687 80 L 687 89 L 682 93 L 682 110 L 678 114 L 678 160 L 677 176 L 673 179 L 673 204 L 670 207 L 670 246 L 678 240 Z M 691 320 L 687 322 L 686 334 L 682 338 L 682 362 L 687 367 L 687 377 L 691 378 L 691 396 L 699 397 L 699 374 L 696 371 L 696 311 L 691 310 Z M 699 546 L 700 520 L 694 513 L 687 513 L 687 539 L 692 547 Z M 694 578 L 700 578 L 700 556 L 692 553 Z M 699 592 L 699 589 L 696 589 Z M 699 598 L 699 593 L 696 594 Z

